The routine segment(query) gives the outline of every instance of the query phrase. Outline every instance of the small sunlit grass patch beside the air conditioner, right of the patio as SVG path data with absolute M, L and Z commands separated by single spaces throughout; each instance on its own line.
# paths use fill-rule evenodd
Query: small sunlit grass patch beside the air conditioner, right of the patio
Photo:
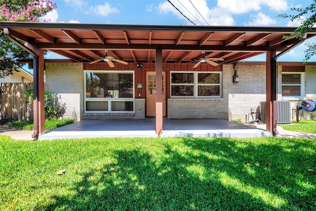
M 283 129 L 297 132 L 316 133 L 316 120 L 301 120 L 292 122 L 291 125 L 279 125 Z

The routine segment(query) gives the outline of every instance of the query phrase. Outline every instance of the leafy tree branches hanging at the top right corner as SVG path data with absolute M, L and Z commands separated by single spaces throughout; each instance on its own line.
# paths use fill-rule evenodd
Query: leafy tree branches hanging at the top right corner
M 316 0 L 314 2 L 305 7 L 305 8 L 291 8 L 291 11 L 295 11 L 297 14 L 279 14 L 277 17 L 280 18 L 289 18 L 292 22 L 299 22 L 301 25 L 294 30 L 289 36 L 284 36 L 284 38 L 299 38 L 303 39 L 305 33 L 310 31 L 312 27 L 316 24 Z M 306 18 L 306 15 L 310 15 L 310 17 Z M 309 42 L 305 44 L 307 49 L 305 52 L 304 62 L 307 62 L 311 56 L 316 54 L 316 43 Z

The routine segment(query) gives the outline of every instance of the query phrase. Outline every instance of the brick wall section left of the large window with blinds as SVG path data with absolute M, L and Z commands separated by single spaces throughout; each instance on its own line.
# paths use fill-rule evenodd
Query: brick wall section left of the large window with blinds
M 45 64 L 45 90 L 57 94 L 65 107 L 63 118 L 82 119 L 83 70 L 82 63 Z

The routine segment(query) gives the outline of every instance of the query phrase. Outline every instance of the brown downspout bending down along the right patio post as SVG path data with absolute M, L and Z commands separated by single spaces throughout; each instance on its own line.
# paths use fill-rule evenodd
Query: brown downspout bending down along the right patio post
M 300 45 L 302 42 L 304 42 L 304 41 L 306 40 L 306 38 L 307 38 L 307 33 L 304 35 L 304 37 L 303 37 L 301 40 L 299 40 L 298 42 L 292 44 L 289 48 L 286 48 L 285 50 L 279 52 L 275 57 L 273 57 L 273 59 L 272 59 L 272 70 L 276 70 L 276 71 L 275 71 L 275 72 L 276 72 L 276 76 L 273 77 L 273 79 L 274 79 L 275 81 L 272 83 L 274 86 L 276 86 L 276 79 L 277 79 L 276 59 L 277 59 L 278 57 L 284 55 L 284 54 L 287 53 L 288 51 L 292 50 L 294 47 Z M 275 91 L 275 93 L 272 93 L 272 96 L 273 96 L 273 98 L 276 98 L 277 87 L 275 87 L 275 88 L 273 89 L 273 91 Z M 276 100 L 276 99 L 274 99 L 274 100 Z M 275 117 L 275 118 L 276 118 L 276 117 Z M 274 133 L 274 134 L 278 134 L 278 131 L 277 131 L 277 129 L 276 129 L 276 125 L 274 124 L 274 122 L 273 122 L 272 124 L 273 124 L 273 125 L 272 125 L 272 131 L 273 131 L 273 133 Z

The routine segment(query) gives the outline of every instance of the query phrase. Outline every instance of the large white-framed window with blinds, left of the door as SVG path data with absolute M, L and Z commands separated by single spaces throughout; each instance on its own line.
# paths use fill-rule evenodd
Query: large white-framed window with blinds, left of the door
M 84 71 L 85 113 L 133 113 L 134 71 Z

